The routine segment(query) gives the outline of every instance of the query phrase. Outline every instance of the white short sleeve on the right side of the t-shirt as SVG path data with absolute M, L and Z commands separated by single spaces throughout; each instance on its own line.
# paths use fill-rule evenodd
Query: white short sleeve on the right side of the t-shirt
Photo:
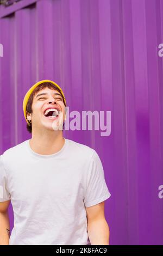
M 87 170 L 87 188 L 84 203 L 86 207 L 98 204 L 111 196 L 105 182 L 102 162 L 96 153 L 93 153 Z

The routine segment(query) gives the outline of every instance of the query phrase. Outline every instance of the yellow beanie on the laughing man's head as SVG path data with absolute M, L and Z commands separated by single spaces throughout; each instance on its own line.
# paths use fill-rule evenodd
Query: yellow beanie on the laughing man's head
M 24 112 L 24 117 L 25 117 L 25 119 L 26 119 L 26 121 L 27 121 L 27 124 L 28 124 L 29 126 L 30 126 L 30 123 L 29 123 L 29 121 L 27 120 L 27 115 L 26 115 L 27 103 L 28 103 L 29 97 L 30 97 L 30 95 L 32 94 L 33 90 L 34 90 L 37 86 L 39 86 L 41 83 L 53 83 L 55 86 L 57 86 L 57 87 L 60 89 L 60 92 L 61 92 L 61 94 L 62 94 L 62 96 L 63 96 L 63 98 L 64 98 L 64 102 L 65 102 L 65 105 L 66 105 L 65 95 L 64 95 L 62 89 L 60 88 L 60 86 L 59 86 L 57 83 L 55 83 L 55 82 L 53 82 L 53 81 L 51 81 L 51 80 L 41 80 L 41 81 L 35 83 L 34 86 L 30 87 L 30 89 L 28 90 L 28 92 L 27 92 L 26 95 L 24 96 L 24 100 L 23 100 L 23 112 Z

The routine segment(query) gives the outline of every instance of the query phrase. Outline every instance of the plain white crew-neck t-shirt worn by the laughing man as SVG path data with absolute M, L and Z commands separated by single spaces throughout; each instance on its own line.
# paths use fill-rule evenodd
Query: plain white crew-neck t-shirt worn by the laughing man
M 96 151 L 65 138 L 40 155 L 29 139 L 0 156 L 0 202 L 11 199 L 9 245 L 90 245 L 85 206 L 110 197 Z

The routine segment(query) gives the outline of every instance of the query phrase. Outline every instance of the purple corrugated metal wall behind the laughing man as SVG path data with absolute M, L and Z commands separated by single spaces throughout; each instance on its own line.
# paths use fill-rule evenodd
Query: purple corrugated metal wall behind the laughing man
M 21 2 L 36 3 L 21 9 Z M 111 111 L 109 137 L 99 131 L 64 136 L 101 157 L 111 193 L 105 202 L 110 244 L 163 244 L 163 2 L 18 4 L 0 8 L 0 154 L 30 138 L 22 100 L 38 80 L 57 82 L 70 111 Z

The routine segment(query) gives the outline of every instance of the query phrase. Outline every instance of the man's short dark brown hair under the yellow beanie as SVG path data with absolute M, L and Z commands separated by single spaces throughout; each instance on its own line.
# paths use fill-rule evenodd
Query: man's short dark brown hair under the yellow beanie
M 39 84 L 39 86 L 37 86 L 33 90 L 32 94 L 30 94 L 29 100 L 27 102 L 26 114 L 27 113 L 28 114 L 32 113 L 32 103 L 33 103 L 34 96 L 36 95 L 37 92 L 39 92 L 40 90 L 42 90 L 44 88 L 49 88 L 49 89 L 57 90 L 61 94 L 60 89 L 57 86 L 55 86 L 53 83 L 44 82 L 44 83 Z M 61 96 L 62 96 L 62 94 L 61 94 Z M 66 106 L 66 103 L 65 103 L 65 100 L 64 100 L 63 96 L 62 96 L 62 100 L 64 101 L 64 105 Z M 63 129 L 64 129 L 64 125 L 63 125 Z M 32 133 L 32 124 L 30 124 L 30 126 L 27 124 L 27 130 L 30 133 Z

